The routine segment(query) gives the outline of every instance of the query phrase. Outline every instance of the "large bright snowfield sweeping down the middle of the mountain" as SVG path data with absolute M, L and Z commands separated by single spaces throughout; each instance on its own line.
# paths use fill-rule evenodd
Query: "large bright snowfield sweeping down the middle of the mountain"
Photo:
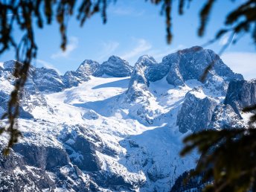
M 92 77 L 80 86 L 45 95 L 54 112 L 36 106 L 34 120 L 20 120 L 25 136 L 21 142 L 61 148 L 58 137 L 72 131 L 63 127 L 81 125 L 96 132 L 117 154 L 108 156 L 97 151 L 101 170 L 116 173 L 131 183 L 144 183 L 135 187 L 136 191 L 170 191 L 177 176 L 193 168 L 198 158 L 196 153 L 186 158 L 179 156 L 186 134 L 176 127 L 183 98 L 196 83 L 173 88 L 164 78 L 151 82 L 153 96 L 147 100 L 147 111 L 152 112 L 155 121 L 150 125 L 141 123 L 135 113 L 140 102 L 126 102 L 128 84 L 129 77 Z

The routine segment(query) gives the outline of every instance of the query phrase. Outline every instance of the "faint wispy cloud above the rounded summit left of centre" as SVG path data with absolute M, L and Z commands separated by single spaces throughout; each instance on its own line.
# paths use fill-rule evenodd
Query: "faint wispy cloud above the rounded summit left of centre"
M 100 57 L 97 58 L 97 60 L 106 60 L 111 54 L 115 52 L 115 50 L 118 48 L 119 42 L 109 41 L 109 42 L 103 42 L 102 44 L 102 51 L 100 51 Z

